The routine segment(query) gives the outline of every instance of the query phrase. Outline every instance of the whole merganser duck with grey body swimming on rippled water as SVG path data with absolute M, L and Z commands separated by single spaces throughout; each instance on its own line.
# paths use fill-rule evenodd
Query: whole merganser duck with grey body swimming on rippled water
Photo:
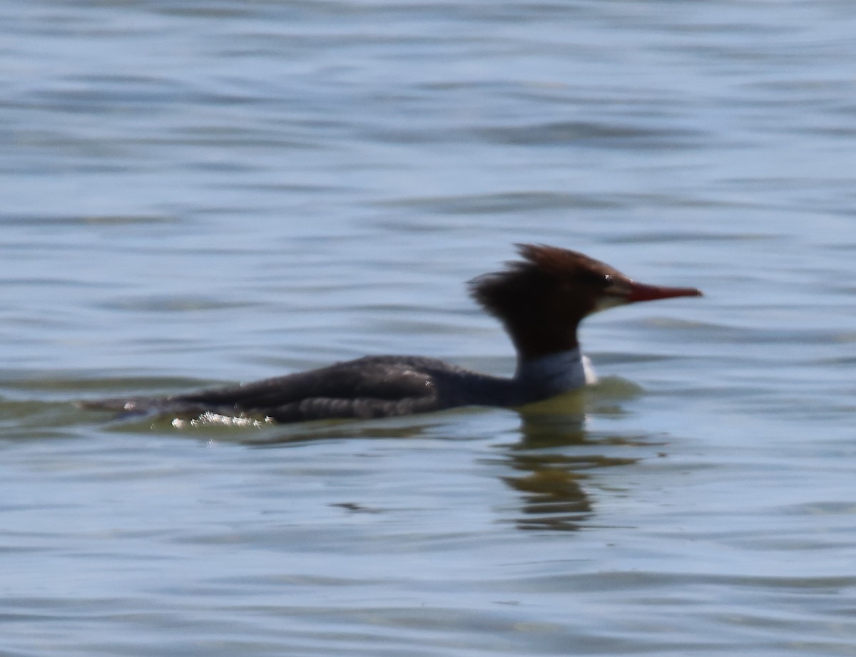
M 473 298 L 502 321 L 517 350 L 511 378 L 435 358 L 368 356 L 318 370 L 169 397 L 87 401 L 123 414 L 264 417 L 287 423 L 393 417 L 455 406 L 518 407 L 591 382 L 577 327 L 594 312 L 638 301 L 700 296 L 694 287 L 644 285 L 579 252 L 518 245 L 521 260 L 470 281 Z

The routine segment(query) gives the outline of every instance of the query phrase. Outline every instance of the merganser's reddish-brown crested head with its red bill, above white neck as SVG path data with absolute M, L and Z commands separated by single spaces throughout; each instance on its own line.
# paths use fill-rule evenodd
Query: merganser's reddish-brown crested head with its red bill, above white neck
M 520 358 L 579 346 L 577 326 L 593 312 L 637 301 L 697 297 L 694 287 L 657 287 L 556 246 L 522 244 L 508 269 L 470 281 L 473 298 L 505 324 Z

